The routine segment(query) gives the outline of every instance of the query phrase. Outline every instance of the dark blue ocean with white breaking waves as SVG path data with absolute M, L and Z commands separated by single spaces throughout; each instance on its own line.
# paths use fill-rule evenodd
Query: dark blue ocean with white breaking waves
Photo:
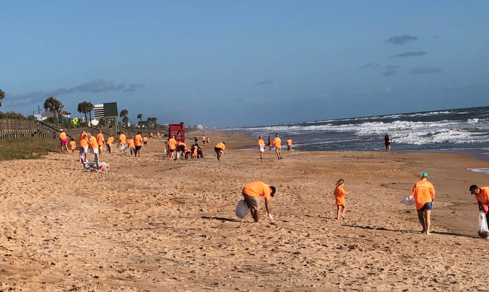
M 297 150 L 436 151 L 475 154 L 489 160 L 489 106 L 230 128 L 271 139 L 292 138 Z

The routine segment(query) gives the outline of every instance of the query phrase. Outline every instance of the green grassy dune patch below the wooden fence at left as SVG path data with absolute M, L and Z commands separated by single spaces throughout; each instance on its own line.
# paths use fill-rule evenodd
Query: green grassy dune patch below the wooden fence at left
M 0 160 L 38 159 L 49 152 L 58 152 L 59 141 L 55 139 L 19 138 L 0 140 Z

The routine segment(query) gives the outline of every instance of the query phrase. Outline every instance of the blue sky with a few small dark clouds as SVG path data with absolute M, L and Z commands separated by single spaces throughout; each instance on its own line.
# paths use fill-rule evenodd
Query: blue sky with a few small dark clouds
M 489 1 L 0 0 L 1 111 L 271 125 L 489 105 Z

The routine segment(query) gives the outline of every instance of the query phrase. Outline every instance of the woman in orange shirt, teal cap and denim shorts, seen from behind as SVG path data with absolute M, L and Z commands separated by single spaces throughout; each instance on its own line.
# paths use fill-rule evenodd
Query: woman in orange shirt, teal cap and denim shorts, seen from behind
M 421 179 L 414 184 L 411 196 L 416 201 L 416 210 L 418 211 L 418 219 L 420 220 L 423 230 L 422 233 L 429 233 L 430 214 L 435 201 L 435 188 L 428 182 L 428 173 L 423 172 Z

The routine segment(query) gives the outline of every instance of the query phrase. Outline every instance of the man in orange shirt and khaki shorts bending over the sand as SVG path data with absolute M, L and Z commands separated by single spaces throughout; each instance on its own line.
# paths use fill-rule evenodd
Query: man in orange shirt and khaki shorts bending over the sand
M 260 221 L 260 202 L 258 201 L 260 197 L 265 198 L 265 209 L 267 209 L 268 219 L 273 220 L 273 216 L 270 213 L 270 201 L 275 194 L 274 187 L 262 182 L 251 182 L 244 186 L 241 192 L 255 223 Z

